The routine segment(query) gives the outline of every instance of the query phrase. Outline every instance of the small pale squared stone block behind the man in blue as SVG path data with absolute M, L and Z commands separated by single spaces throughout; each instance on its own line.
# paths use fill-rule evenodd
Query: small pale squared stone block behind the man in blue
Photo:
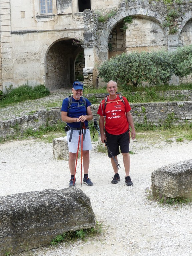
M 69 147 L 67 136 L 53 139 L 53 157 L 55 159 L 69 159 Z

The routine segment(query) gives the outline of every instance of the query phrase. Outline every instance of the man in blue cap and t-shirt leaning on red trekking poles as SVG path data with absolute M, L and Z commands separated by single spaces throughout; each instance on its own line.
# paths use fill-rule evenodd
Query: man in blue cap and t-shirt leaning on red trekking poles
M 69 186 L 75 186 L 74 176 L 75 176 L 75 160 L 77 157 L 77 147 L 79 140 L 79 128 L 81 122 L 84 123 L 86 129 L 83 129 L 83 170 L 84 178 L 83 183 L 88 186 L 92 186 L 93 182 L 88 177 L 89 169 L 89 150 L 92 149 L 90 131 L 88 129 L 88 121 L 93 119 L 93 114 L 91 112 L 91 103 L 88 99 L 82 98 L 83 94 L 83 83 L 74 82 L 72 88 L 72 98 L 71 104 L 69 106 L 69 98 L 63 100 L 61 107 L 61 119 L 67 123 L 67 143 L 69 147 L 69 170 L 71 173 L 71 179 Z M 84 100 L 86 102 L 84 102 Z M 86 104 L 85 104 L 86 103 Z M 81 145 L 81 136 L 80 136 Z

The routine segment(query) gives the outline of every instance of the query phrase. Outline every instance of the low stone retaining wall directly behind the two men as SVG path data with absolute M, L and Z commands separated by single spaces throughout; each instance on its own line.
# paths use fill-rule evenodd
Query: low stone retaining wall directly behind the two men
M 178 125 L 192 122 L 192 101 L 135 103 L 131 105 L 134 123 L 151 123 L 162 126 L 168 122 Z M 94 118 L 98 119 L 99 105 L 91 105 Z M 38 130 L 42 125 L 53 125 L 61 121 L 60 107 L 49 111 L 37 111 L 33 115 L 24 115 L 11 120 L 0 121 L 0 138 L 22 134 L 27 128 Z

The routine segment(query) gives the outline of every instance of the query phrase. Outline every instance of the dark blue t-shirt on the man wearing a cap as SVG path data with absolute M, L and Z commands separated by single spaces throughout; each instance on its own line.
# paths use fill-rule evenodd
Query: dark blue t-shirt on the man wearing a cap
M 86 105 L 87 105 L 86 107 L 91 106 L 90 101 L 88 99 L 85 99 L 85 100 L 86 100 Z M 75 103 L 73 103 L 73 102 L 75 102 Z M 78 104 L 78 102 L 80 102 L 80 103 Z M 87 115 L 85 104 L 84 104 L 82 98 L 80 98 L 80 100 L 75 100 L 72 97 L 72 103 L 71 103 L 71 106 L 69 108 L 69 111 L 68 111 L 68 104 L 69 104 L 69 99 L 65 98 L 63 100 L 62 107 L 61 107 L 61 111 L 68 112 L 67 116 L 78 118 L 80 116 Z M 85 126 L 88 125 L 87 120 L 84 123 L 85 123 Z M 70 127 L 73 127 L 73 128 L 79 128 L 80 127 L 80 122 L 67 123 L 67 125 L 69 125 Z

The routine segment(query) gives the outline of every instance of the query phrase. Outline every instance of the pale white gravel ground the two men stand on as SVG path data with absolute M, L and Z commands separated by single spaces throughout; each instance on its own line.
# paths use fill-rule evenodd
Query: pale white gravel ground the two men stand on
M 52 144 L 39 140 L 13 141 L 0 145 L 0 196 L 44 189 L 68 187 L 68 162 L 53 158 Z M 160 206 L 145 197 L 155 169 L 192 158 L 192 141 L 131 141 L 130 176 L 124 181 L 122 156 L 118 162 L 120 182 L 111 184 L 113 171 L 107 155 L 90 152 L 89 176 L 94 185 L 80 186 L 80 163 L 77 164 L 77 187 L 90 198 L 103 233 L 88 241 L 46 246 L 22 252 L 18 256 L 189 256 L 192 255 L 192 205 Z

